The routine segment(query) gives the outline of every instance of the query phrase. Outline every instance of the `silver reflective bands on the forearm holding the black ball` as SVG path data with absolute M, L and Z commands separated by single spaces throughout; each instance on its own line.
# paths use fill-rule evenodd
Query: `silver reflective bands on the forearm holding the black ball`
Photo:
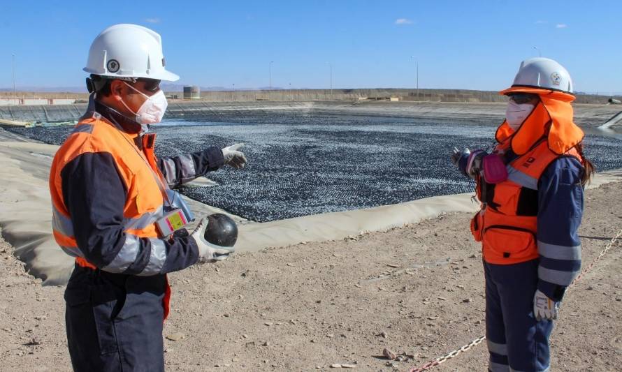
M 166 261 L 166 246 L 164 241 L 157 238 L 141 238 L 125 233 L 125 242 L 121 247 L 119 253 L 112 262 L 102 270 L 112 273 L 122 273 L 129 269 L 129 267 L 136 262 L 139 253 L 143 253 L 143 250 L 149 249 L 149 262 L 142 271 L 136 273 L 136 275 L 147 276 L 159 274 L 164 261 Z

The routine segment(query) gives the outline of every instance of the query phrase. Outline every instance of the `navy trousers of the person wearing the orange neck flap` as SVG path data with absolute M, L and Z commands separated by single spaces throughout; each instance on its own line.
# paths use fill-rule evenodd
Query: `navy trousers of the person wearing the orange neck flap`
M 486 340 L 492 372 L 549 370 L 551 320 L 537 322 L 533 295 L 538 260 L 514 265 L 484 262 Z

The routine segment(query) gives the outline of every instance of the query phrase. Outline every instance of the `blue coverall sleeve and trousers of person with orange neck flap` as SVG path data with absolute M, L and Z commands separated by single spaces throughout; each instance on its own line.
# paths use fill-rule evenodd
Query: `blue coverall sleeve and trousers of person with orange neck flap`
M 484 262 L 489 371 L 549 371 L 553 321 L 535 319 L 533 296 L 538 289 L 560 302 L 581 268 L 582 172 L 576 158 L 560 157 L 538 181 L 540 258 L 514 265 Z

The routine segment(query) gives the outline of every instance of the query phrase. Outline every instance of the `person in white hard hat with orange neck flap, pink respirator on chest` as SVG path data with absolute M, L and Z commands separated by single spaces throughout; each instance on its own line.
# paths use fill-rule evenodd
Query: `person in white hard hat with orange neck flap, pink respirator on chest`
M 477 181 L 482 210 L 471 230 L 482 242 L 489 371 L 548 371 L 549 335 L 564 292 L 581 267 L 584 185 L 593 172 L 584 133 L 572 122 L 572 80 L 547 58 L 521 63 L 498 144 L 454 151 Z

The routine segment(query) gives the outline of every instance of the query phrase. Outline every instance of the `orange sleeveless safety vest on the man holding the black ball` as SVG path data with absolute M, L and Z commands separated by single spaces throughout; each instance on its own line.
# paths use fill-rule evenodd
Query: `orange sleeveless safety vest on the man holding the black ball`
M 106 152 L 112 155 L 127 188 L 123 209 L 124 232 L 138 238 L 158 238 L 154 222 L 164 215 L 166 181 L 154 156 L 155 134 L 143 135 L 143 150 L 136 146 L 136 137 L 137 134 L 125 133 L 100 114 L 92 112 L 91 116 L 82 118 L 75 126 L 52 161 L 52 230 L 62 250 L 75 257 L 76 264 L 81 267 L 96 269 L 78 249 L 71 215 L 64 203 L 61 179 L 65 165 L 80 154 Z M 164 318 L 168 315 L 170 294 L 167 281 Z

